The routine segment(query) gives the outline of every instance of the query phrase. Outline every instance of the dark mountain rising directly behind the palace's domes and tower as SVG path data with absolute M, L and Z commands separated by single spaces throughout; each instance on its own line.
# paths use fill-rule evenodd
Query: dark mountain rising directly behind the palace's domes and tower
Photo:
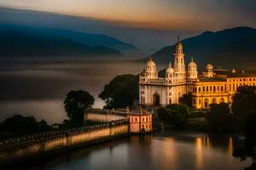
M 244 68 L 253 62 L 256 63 L 254 28 L 236 27 L 224 31 L 206 31 L 199 36 L 186 38 L 182 43 L 186 62 L 188 63 L 193 56 L 200 69 L 207 63 L 225 68 L 231 68 L 233 65 Z M 161 48 L 152 54 L 154 60 L 165 64 L 171 60 L 173 63 L 175 45 Z

